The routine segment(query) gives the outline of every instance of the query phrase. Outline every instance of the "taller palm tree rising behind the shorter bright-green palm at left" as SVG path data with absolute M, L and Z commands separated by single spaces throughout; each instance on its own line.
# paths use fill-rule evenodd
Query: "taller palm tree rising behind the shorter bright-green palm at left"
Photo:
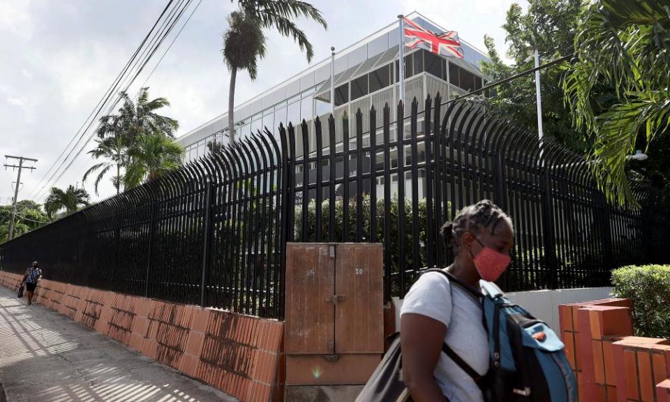
M 133 102 L 125 91 L 122 91 L 120 96 L 122 103 L 119 111 L 117 114 L 101 117 L 101 124 L 96 131 L 98 146 L 89 151 L 89 154 L 95 159 L 106 159 L 104 162 L 91 166 L 84 174 L 83 181 L 86 181 L 89 174 L 98 173 L 95 181 L 96 194 L 98 194 L 100 181 L 114 167 L 117 174 L 112 177 L 112 183 L 117 189 L 117 195 L 119 194 L 121 184 L 125 183 L 125 180 L 122 179 L 121 168 L 125 168 L 130 163 L 129 154 L 137 138 L 143 135 L 163 135 L 174 138 L 174 132 L 179 128 L 177 120 L 156 112 L 162 107 L 169 106 L 170 102 L 165 98 L 149 100 L 148 87 L 140 89 L 136 102 Z

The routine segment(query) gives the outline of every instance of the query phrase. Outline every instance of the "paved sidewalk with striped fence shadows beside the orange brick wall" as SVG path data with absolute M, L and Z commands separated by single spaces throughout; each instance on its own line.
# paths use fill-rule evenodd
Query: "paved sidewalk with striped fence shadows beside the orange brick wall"
M 0 384 L 8 402 L 237 401 L 4 287 Z

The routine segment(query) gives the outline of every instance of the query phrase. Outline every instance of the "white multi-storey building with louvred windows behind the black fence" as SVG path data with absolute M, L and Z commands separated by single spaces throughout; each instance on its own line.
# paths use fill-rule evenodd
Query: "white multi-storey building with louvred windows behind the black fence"
M 431 31 L 447 31 L 419 13 L 411 13 L 407 17 Z M 345 113 L 352 116 L 358 109 L 364 112 L 364 119 L 367 119 L 367 111 L 371 106 L 382 110 L 385 103 L 397 103 L 398 41 L 399 27 L 396 21 L 335 55 L 336 121 L 341 121 Z M 484 85 L 479 64 L 489 58 L 463 38 L 461 44 L 463 59 L 405 48 L 405 104 L 416 97 L 421 100 L 419 108 L 422 108 L 422 101 L 427 94 L 435 96 L 439 91 L 443 99 L 445 95 L 446 98 L 453 98 Z M 313 136 L 313 119 L 326 119 L 330 112 L 330 63 L 330 58 L 325 59 L 235 107 L 237 136 L 244 137 L 264 127 L 276 132 L 279 124 L 286 126 L 289 121 L 297 124 L 302 120 L 308 122 L 308 135 Z M 409 107 L 405 110 L 409 114 Z M 394 119 L 395 108 L 392 107 Z M 350 125 L 353 124 L 354 119 L 350 119 Z M 336 131 L 337 142 L 341 147 L 341 124 L 336 125 Z M 185 161 L 206 155 L 209 142 L 228 143 L 227 132 L 228 114 L 225 113 L 179 137 L 177 142 L 186 149 Z M 353 132 L 354 129 L 350 127 L 350 133 Z M 310 138 L 309 143 L 315 144 L 315 140 Z M 297 154 L 302 153 L 301 141 L 297 141 Z

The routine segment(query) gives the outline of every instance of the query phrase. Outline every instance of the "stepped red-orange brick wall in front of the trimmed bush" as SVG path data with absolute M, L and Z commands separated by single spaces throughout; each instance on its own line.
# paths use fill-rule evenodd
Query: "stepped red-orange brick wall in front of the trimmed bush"
M 559 306 L 580 401 L 670 402 L 670 345 L 632 336 L 631 308 L 628 299 Z

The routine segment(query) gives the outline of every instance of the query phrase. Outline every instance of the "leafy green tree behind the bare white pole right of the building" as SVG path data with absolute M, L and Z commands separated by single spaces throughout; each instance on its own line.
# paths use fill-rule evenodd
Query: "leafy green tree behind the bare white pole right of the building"
M 509 45 L 507 56 L 514 61 L 512 66 L 507 66 L 500 59 L 493 38 L 484 37 L 491 62 L 482 62 L 482 72 L 492 81 L 535 67 L 533 59 L 526 61 L 533 54 L 531 47 L 537 46 L 542 62 L 572 52 L 574 29 L 579 22 L 579 11 L 586 1 L 530 0 L 528 3 L 528 12 L 525 14 L 519 4 L 512 4 L 502 25 L 507 32 L 505 43 Z M 567 65 L 567 62 L 562 65 Z M 583 151 L 588 144 L 581 131 L 575 130 L 570 124 L 569 108 L 563 103 L 563 91 L 560 88 L 561 74 L 560 68 L 541 71 L 543 132 L 569 148 Z M 496 96 L 479 98 L 479 102 L 485 103 L 491 114 L 503 119 L 514 119 L 537 131 L 535 75 L 512 80 L 497 87 L 496 91 Z

